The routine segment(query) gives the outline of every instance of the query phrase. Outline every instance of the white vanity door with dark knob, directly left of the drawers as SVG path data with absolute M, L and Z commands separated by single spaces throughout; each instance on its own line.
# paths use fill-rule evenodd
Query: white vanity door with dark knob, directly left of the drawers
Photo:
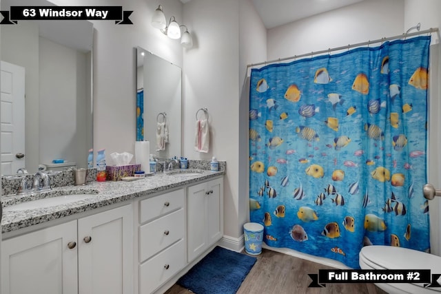
M 78 236 L 78 293 L 132 293 L 132 205 L 80 218 Z

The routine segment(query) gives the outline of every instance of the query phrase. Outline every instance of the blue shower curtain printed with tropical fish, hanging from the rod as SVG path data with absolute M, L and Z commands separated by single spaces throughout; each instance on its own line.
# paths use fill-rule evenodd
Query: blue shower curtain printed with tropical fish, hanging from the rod
M 359 269 L 429 250 L 429 36 L 252 69 L 250 220 L 264 242 Z

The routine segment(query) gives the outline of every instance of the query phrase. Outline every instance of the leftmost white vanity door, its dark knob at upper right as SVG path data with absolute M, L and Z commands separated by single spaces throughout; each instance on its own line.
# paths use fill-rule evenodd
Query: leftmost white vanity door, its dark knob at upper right
M 77 243 L 76 220 L 2 241 L 1 293 L 78 293 Z

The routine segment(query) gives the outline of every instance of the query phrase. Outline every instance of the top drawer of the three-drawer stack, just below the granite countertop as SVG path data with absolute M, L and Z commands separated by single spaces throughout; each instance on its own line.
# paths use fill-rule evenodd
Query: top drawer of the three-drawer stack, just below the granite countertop
M 139 222 L 147 222 L 184 207 L 184 189 L 141 200 Z

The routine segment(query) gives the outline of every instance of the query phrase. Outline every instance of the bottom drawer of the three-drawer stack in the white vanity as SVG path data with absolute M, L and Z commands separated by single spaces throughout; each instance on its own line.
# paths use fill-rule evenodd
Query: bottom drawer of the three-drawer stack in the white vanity
M 185 266 L 185 242 L 181 240 L 169 249 L 141 264 L 139 293 L 152 293 Z

